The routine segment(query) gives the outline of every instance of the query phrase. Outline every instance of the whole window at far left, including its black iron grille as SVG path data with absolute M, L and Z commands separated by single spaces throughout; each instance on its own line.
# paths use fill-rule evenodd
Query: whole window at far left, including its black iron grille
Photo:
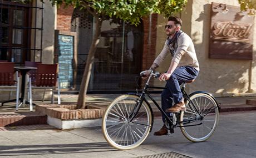
M 43 3 L 40 8 L 37 1 L 35 6 L 31 3 L 0 1 L 0 60 L 23 64 L 25 60 L 30 60 L 31 51 L 34 60 L 35 55 L 42 56 L 42 25 L 41 28 L 37 27 L 37 23 L 40 23 L 38 11 L 43 11 Z M 35 18 L 33 24 L 32 16 Z

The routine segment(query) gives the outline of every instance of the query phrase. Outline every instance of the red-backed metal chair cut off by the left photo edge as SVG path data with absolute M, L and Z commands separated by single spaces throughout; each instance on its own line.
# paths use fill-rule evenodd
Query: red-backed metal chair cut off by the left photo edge
M 14 81 L 14 63 L 0 62 L 0 90 L 16 91 L 16 110 L 19 102 L 19 74 L 16 72 L 17 81 Z

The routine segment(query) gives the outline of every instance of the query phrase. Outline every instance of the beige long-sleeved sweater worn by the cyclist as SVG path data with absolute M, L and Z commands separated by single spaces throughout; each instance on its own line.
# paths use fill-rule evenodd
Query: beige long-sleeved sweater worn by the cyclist
M 198 59 L 196 58 L 195 47 L 189 35 L 184 32 L 181 33 L 177 43 L 178 48 L 174 53 L 172 61 L 177 63 L 178 67 L 190 66 L 199 71 L 199 63 Z M 166 40 L 162 52 L 156 57 L 154 63 L 160 65 L 168 53 L 170 53 L 170 50 L 168 48 L 168 40 Z

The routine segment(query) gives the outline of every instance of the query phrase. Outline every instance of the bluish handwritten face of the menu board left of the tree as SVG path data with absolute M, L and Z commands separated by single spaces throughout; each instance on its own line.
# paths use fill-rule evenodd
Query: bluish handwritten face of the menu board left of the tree
M 58 34 L 58 68 L 60 88 L 73 87 L 74 37 Z

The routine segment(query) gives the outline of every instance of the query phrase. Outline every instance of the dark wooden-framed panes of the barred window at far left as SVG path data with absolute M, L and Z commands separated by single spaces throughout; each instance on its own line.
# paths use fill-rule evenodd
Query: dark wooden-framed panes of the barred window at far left
M 8 3 L 13 4 L 13 3 Z M 27 53 L 27 29 L 25 14 L 27 8 L 5 5 L 0 6 L 0 60 L 21 64 Z

